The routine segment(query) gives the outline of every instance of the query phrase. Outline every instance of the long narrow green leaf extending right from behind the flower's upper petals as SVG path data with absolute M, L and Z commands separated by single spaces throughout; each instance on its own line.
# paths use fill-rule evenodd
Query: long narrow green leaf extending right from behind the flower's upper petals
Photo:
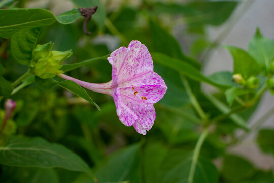
M 203 81 L 218 87 L 225 87 L 225 85 L 212 82 L 209 78 L 203 76 L 198 69 L 188 64 L 187 62 L 184 62 L 183 60 L 172 58 L 162 53 L 152 53 L 151 55 L 154 62 L 172 68 L 180 74 L 190 77 L 191 79 L 196 81 Z

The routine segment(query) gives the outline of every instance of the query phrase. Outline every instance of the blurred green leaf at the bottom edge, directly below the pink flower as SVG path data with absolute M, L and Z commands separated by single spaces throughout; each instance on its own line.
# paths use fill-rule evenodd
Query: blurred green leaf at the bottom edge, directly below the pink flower
M 118 151 L 96 171 L 98 182 L 126 181 L 137 173 L 139 144 Z M 130 181 L 132 182 L 132 181 Z

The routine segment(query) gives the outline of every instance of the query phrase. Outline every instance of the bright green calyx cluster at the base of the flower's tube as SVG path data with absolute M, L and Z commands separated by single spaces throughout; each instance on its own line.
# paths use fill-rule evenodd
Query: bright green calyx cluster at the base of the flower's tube
M 56 74 L 62 73 L 60 70 L 62 62 L 72 55 L 72 50 L 51 51 L 52 47 L 53 43 L 49 42 L 37 45 L 32 51 L 30 68 L 32 68 L 33 74 L 42 79 L 52 78 Z

